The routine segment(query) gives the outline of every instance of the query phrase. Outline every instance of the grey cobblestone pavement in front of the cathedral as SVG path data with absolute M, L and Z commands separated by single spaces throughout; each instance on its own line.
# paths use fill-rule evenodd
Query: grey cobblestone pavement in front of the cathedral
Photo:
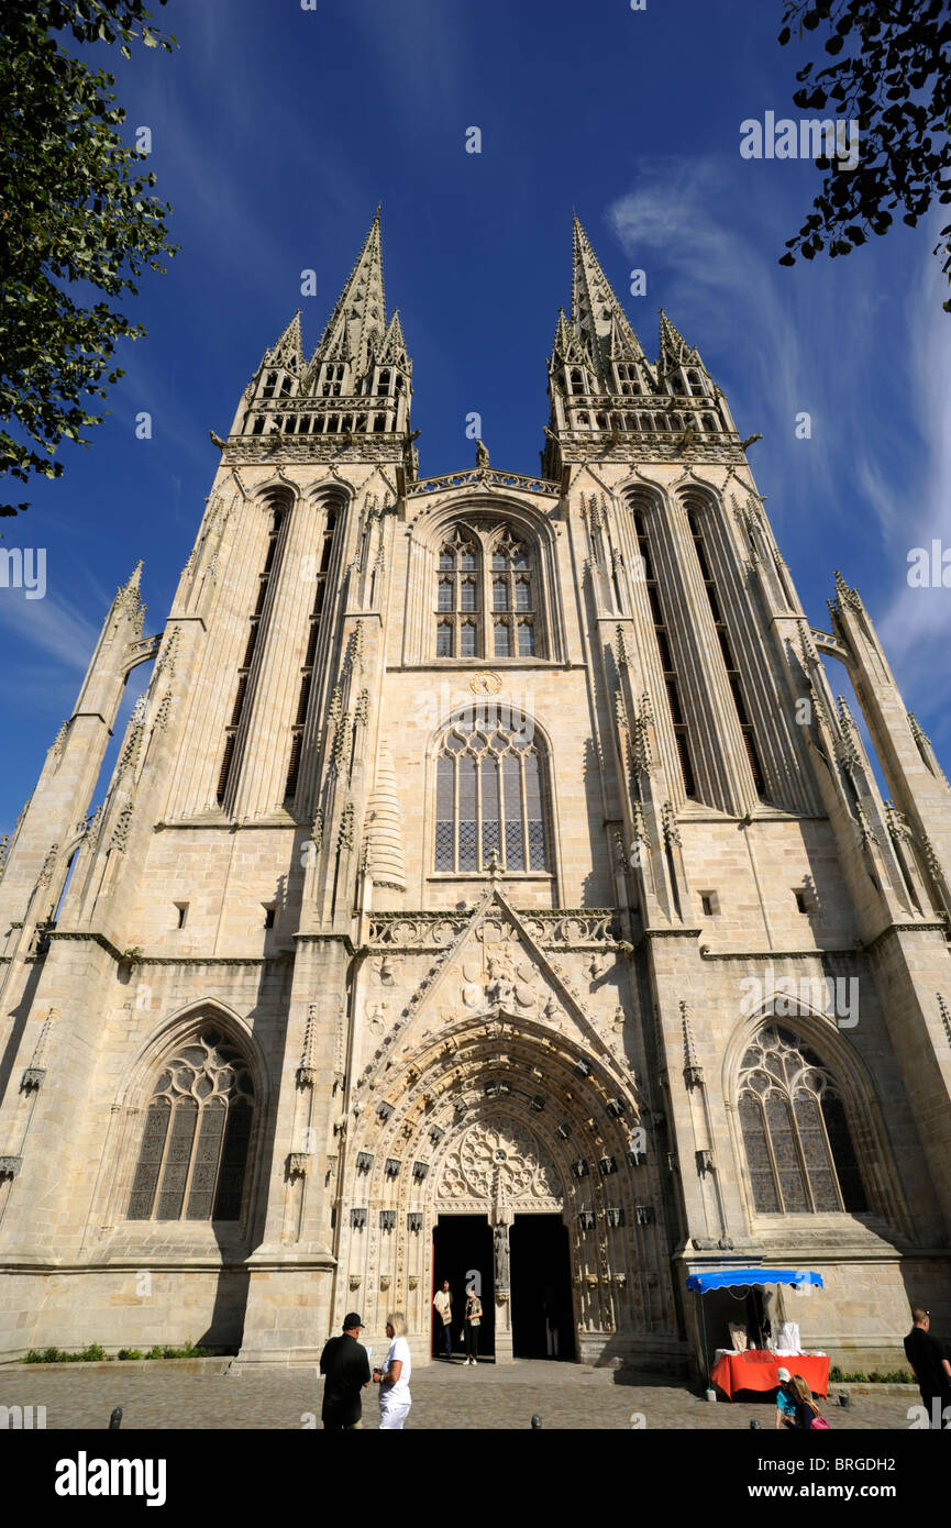
M 122 1407 L 122 1429 L 295 1429 L 306 1413 L 320 1426 L 321 1389 L 323 1380 L 301 1369 L 235 1377 L 122 1374 L 119 1365 L 115 1372 L 0 1371 L 0 1406 L 46 1406 L 47 1429 L 104 1429 L 115 1406 Z M 414 1371 L 411 1390 L 410 1429 L 527 1429 L 532 1413 L 544 1429 L 749 1430 L 754 1416 L 764 1429 L 775 1421 L 768 1403 L 711 1404 L 683 1384 L 569 1363 L 430 1365 Z M 905 1430 L 916 1401 L 913 1394 L 853 1395 L 849 1409 L 826 1401 L 823 1410 L 836 1430 Z M 633 1413 L 644 1421 L 631 1421 Z M 367 1390 L 364 1426 L 376 1421 L 376 1395 Z

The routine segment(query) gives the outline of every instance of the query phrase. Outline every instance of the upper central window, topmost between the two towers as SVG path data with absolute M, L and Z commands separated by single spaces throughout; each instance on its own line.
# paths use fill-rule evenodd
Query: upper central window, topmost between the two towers
M 436 657 L 538 657 L 537 590 L 531 550 L 508 526 L 456 526 L 439 552 Z

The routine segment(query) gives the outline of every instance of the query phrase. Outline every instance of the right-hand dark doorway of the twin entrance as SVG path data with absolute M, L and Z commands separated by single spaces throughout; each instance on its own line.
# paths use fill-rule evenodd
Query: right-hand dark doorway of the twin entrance
M 560 1215 L 517 1215 L 509 1244 L 515 1358 L 573 1358 L 567 1225 Z

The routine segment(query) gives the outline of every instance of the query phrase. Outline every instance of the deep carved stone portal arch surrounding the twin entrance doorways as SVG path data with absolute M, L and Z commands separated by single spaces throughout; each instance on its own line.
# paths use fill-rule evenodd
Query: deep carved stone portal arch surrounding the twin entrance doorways
M 657 1164 L 650 1148 L 631 1154 L 641 1103 L 609 1051 L 494 1004 L 424 1030 L 399 1057 L 384 1041 L 378 1056 L 355 1089 L 347 1131 L 341 1316 L 358 1299 L 372 1325 L 396 1300 L 416 1331 L 428 1331 L 437 1215 L 509 1224 L 538 1210 L 567 1224 L 583 1335 L 671 1326 Z M 501 1161 L 489 1160 L 500 1151 Z M 527 1169 L 515 1163 L 526 1154 Z M 497 1285 L 505 1303 L 500 1296 Z

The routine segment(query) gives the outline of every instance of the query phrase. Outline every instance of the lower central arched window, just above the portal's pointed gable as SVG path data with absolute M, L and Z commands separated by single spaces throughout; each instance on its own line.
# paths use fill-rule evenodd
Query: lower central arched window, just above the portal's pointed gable
M 547 769 L 531 721 L 488 703 L 463 712 L 436 762 L 437 871 L 549 871 Z

